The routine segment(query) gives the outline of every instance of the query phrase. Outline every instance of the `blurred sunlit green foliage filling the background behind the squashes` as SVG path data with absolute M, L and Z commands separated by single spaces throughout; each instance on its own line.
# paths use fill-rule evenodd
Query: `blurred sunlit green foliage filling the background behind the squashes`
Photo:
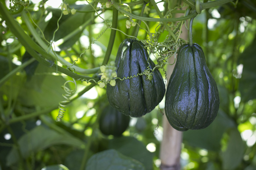
M 27 9 L 50 41 L 61 10 L 44 5 L 47 0 L 33 2 Z M 70 8 L 92 10 L 85 1 L 66 2 Z M 98 1 L 94 2 L 96 7 Z M 204 49 L 208 67 L 218 84 L 220 109 L 206 129 L 183 133 L 182 170 L 256 169 L 256 8 L 253 8 L 256 4 L 252 2 L 239 0 L 237 8 L 228 3 L 203 10 L 194 20 L 193 42 Z M 144 16 L 156 17 L 152 4 L 147 7 L 151 12 Z M 134 6 L 133 12 L 139 14 L 139 8 L 141 5 Z M 112 20 L 111 9 L 101 10 L 101 16 Z M 13 17 L 31 35 L 21 14 Z M 126 20 L 124 15 L 118 16 L 118 29 L 133 35 L 134 28 L 126 29 Z M 158 23 L 146 23 L 154 32 Z M 55 42 L 60 43 L 59 40 L 74 33 L 55 47 L 56 53 L 69 62 L 105 29 L 103 20 L 94 12 L 63 15 L 59 26 Z M 144 23 L 141 26 L 145 28 Z M 42 38 L 40 30 L 35 25 L 34 28 Z M 110 32 L 107 30 L 95 41 L 76 66 L 85 69 L 101 66 Z M 167 34 L 167 31 L 161 33 L 159 41 Z M 126 38 L 117 31 L 110 61 L 114 61 L 120 43 Z M 145 31 L 140 30 L 138 39 L 145 38 Z M 0 42 L 2 80 L 31 56 L 1 16 Z M 141 118 L 132 118 L 122 137 L 105 136 L 99 131 L 97 117 L 108 104 L 106 90 L 94 86 L 68 105 L 59 123 L 55 121 L 58 103 L 65 100 L 61 86 L 67 80 L 71 78 L 34 61 L 0 85 L 0 169 L 78 170 L 87 163 L 86 170 L 107 170 L 107 166 L 109 170 L 159 170 L 163 117 L 157 108 Z M 78 92 L 89 85 L 77 81 Z M 75 88 L 74 84 L 68 87 Z

